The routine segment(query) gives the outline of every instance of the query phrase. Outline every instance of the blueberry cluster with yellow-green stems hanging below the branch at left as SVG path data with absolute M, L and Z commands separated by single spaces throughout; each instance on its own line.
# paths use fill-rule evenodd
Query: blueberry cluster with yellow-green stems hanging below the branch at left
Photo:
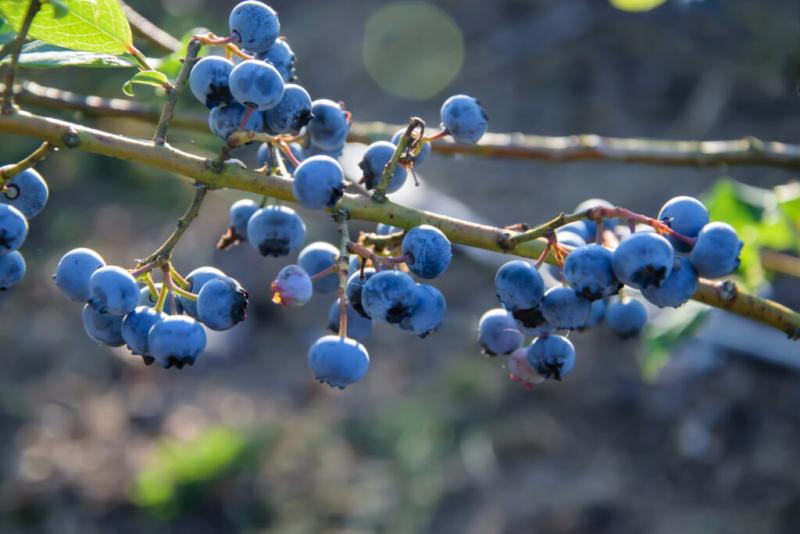
M 204 325 L 222 331 L 246 318 L 247 292 L 214 267 L 195 269 L 186 279 L 166 269 L 166 288 L 153 284 L 149 271 L 134 274 L 76 248 L 61 258 L 53 278 L 65 297 L 85 303 L 83 326 L 92 340 L 127 345 L 147 365 L 194 365 L 206 347 Z

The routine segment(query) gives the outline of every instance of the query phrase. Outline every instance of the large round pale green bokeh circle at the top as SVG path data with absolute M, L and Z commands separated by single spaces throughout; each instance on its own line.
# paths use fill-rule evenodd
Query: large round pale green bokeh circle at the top
M 425 100 L 458 75 L 464 37 L 450 15 L 428 2 L 393 2 L 367 20 L 363 55 L 381 89 Z

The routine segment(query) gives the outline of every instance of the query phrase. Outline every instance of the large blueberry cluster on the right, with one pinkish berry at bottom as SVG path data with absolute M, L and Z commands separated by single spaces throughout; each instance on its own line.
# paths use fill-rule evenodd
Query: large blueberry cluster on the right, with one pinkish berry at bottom
M 563 285 L 545 288 L 532 264 L 510 261 L 495 276 L 502 308 L 480 319 L 478 342 L 484 353 L 509 355 L 512 379 L 527 387 L 547 378 L 561 380 L 575 364 L 575 349 L 559 332 L 605 321 L 622 338 L 636 336 L 648 313 L 630 293 L 639 292 L 658 307 L 677 308 L 694 295 L 699 277 L 720 278 L 739 266 L 742 242 L 736 231 L 710 222 L 708 210 L 695 198 L 671 199 L 657 219 L 644 218 L 643 225 L 635 224 L 641 217 L 625 224 L 624 217 L 615 215 L 626 211 L 603 200 L 588 200 L 576 213 L 587 210 L 597 213 L 593 220 L 555 232 L 555 246 L 566 259 L 560 269 L 549 267 Z M 533 341 L 523 347 L 526 332 Z

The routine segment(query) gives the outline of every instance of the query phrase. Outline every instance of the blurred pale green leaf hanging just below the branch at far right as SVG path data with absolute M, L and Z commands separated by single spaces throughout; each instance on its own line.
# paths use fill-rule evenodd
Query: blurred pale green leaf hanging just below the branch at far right
M 708 316 L 708 306 L 689 301 L 678 309 L 662 311 L 647 326 L 641 372 L 645 380 L 655 380 L 670 354 L 685 339 L 693 336 Z

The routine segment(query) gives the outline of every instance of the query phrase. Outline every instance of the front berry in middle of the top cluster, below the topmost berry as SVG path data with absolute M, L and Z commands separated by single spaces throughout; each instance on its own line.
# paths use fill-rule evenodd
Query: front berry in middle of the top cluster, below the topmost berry
M 283 78 L 266 61 L 242 61 L 231 71 L 229 83 L 233 98 L 258 111 L 274 108 L 283 98 Z

